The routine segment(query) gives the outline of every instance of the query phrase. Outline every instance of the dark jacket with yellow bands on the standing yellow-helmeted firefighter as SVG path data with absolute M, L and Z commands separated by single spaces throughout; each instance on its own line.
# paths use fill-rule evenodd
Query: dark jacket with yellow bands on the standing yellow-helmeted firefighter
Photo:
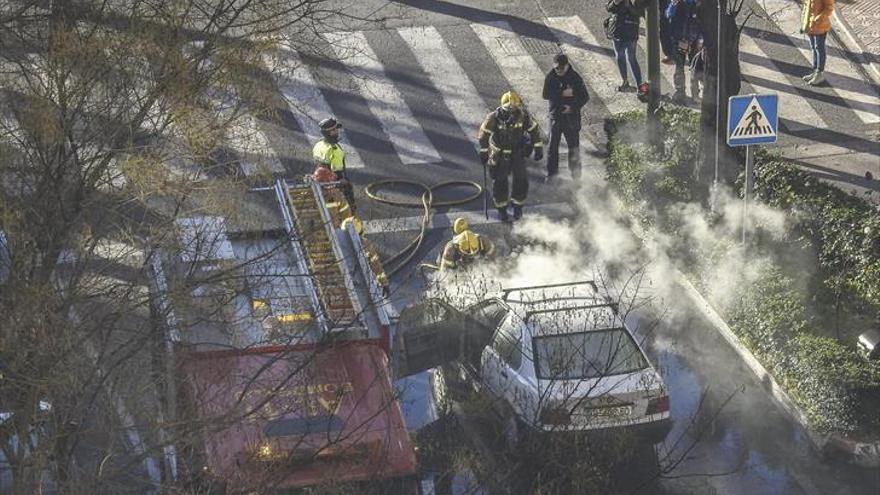
M 525 156 L 532 148 L 544 146 L 541 128 L 526 110 L 514 108 L 509 112 L 508 119 L 501 118 L 505 111 L 500 107 L 486 115 L 477 136 L 480 154 L 488 154 L 489 164 L 493 166 L 505 159 Z

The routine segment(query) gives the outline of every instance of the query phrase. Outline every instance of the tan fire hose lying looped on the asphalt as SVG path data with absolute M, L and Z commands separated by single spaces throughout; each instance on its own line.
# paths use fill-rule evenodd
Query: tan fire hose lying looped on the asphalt
M 422 189 L 424 192 L 421 197 L 416 199 L 393 199 L 387 196 L 382 196 L 378 191 L 382 189 L 391 189 L 395 186 L 407 186 L 407 187 L 416 187 Z M 475 193 L 466 196 L 461 199 L 452 199 L 446 201 L 437 201 L 434 202 L 434 192 L 442 189 L 444 187 L 460 187 L 466 186 L 471 187 L 476 190 Z M 367 184 L 367 187 L 364 188 L 364 193 L 368 198 L 373 201 L 377 201 L 379 203 L 385 203 L 393 206 L 402 206 L 404 208 L 422 208 L 422 223 L 419 229 L 419 233 L 407 244 L 406 247 L 392 255 L 386 260 L 382 260 L 383 266 L 389 266 L 392 263 L 397 263 L 394 268 L 387 269 L 386 272 L 388 276 L 391 277 L 398 271 L 400 271 L 404 266 L 406 266 L 412 258 L 419 251 L 419 248 L 422 247 L 422 242 L 425 240 L 425 232 L 428 230 L 428 224 L 431 222 L 431 209 L 436 207 L 444 207 L 444 206 L 457 206 L 468 203 L 480 197 L 483 194 L 483 186 L 477 184 L 476 182 L 469 180 L 448 180 L 444 182 L 439 182 L 434 184 L 433 186 L 429 186 L 424 182 L 418 182 L 413 180 L 404 180 L 404 179 L 387 179 L 387 180 L 379 180 L 375 182 L 370 182 Z M 431 265 L 433 267 L 433 265 Z

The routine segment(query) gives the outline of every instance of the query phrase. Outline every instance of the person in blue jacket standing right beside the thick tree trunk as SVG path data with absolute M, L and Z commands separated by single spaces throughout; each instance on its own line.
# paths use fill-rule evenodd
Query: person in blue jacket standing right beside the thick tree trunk
M 679 103 L 687 102 L 685 88 L 685 69 L 690 68 L 694 58 L 703 49 L 703 30 L 700 27 L 699 0 L 671 0 L 665 16 L 669 20 L 670 37 L 675 43 L 675 92 L 672 99 Z M 697 71 L 691 75 L 691 93 L 694 98 L 699 91 L 696 80 Z

